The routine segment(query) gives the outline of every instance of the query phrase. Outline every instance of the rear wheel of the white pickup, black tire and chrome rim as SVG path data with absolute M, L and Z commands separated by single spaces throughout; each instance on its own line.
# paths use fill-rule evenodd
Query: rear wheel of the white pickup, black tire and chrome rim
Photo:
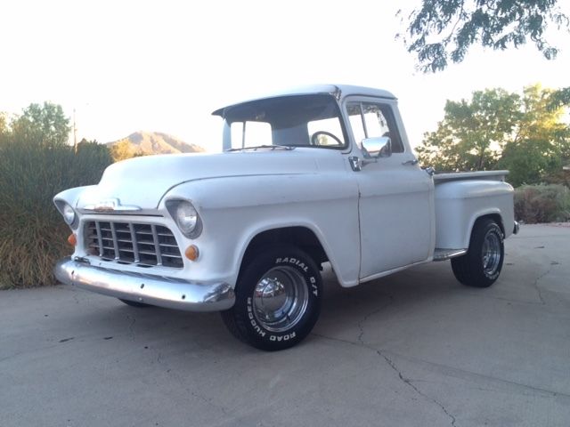
M 499 224 L 488 218 L 478 220 L 471 232 L 468 253 L 452 258 L 455 278 L 467 286 L 493 285 L 505 258 L 503 239 Z

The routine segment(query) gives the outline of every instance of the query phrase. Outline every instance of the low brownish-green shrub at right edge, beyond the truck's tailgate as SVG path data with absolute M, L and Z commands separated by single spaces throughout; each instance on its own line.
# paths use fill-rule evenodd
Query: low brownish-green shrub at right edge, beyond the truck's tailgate
M 528 224 L 570 221 L 570 189 L 560 184 L 519 187 L 515 218 Z

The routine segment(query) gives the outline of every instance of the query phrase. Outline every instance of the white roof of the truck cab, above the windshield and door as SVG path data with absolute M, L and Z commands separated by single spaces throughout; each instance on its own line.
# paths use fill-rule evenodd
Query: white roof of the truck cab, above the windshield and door
M 224 117 L 225 109 L 232 108 L 236 105 L 240 105 L 246 102 L 252 101 L 260 101 L 260 100 L 267 100 L 270 98 L 279 98 L 281 96 L 295 96 L 295 95 L 314 95 L 314 94 L 330 94 L 335 96 L 338 100 L 344 98 L 345 96 L 349 95 L 363 95 L 363 96 L 372 96 L 375 98 L 386 98 L 389 100 L 395 100 L 395 96 L 392 93 L 389 93 L 382 89 L 375 89 L 372 87 L 364 87 L 364 86 L 354 86 L 354 85 L 311 85 L 311 86 L 303 86 L 297 87 L 293 89 L 289 89 L 287 91 L 282 91 L 279 93 L 272 93 L 266 96 L 262 96 L 253 100 L 238 102 L 235 104 L 231 104 L 225 106 L 221 109 L 216 109 L 212 113 L 213 116 L 220 116 Z

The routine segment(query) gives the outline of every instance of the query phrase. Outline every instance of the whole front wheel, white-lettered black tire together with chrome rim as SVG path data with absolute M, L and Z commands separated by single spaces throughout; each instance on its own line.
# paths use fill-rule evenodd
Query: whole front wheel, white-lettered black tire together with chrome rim
M 295 246 L 272 246 L 240 272 L 236 302 L 222 312 L 242 342 L 284 350 L 311 332 L 321 309 L 322 278 L 313 259 Z

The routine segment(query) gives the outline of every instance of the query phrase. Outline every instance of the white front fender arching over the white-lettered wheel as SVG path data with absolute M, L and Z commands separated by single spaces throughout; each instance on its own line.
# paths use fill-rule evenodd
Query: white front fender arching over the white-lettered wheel
M 213 276 L 235 285 L 248 244 L 283 227 L 312 230 L 343 286 L 357 284 L 360 257 L 358 190 L 344 173 L 252 175 L 183 183 L 167 192 L 190 200 L 203 230 L 192 243 L 200 257 L 192 279 Z

